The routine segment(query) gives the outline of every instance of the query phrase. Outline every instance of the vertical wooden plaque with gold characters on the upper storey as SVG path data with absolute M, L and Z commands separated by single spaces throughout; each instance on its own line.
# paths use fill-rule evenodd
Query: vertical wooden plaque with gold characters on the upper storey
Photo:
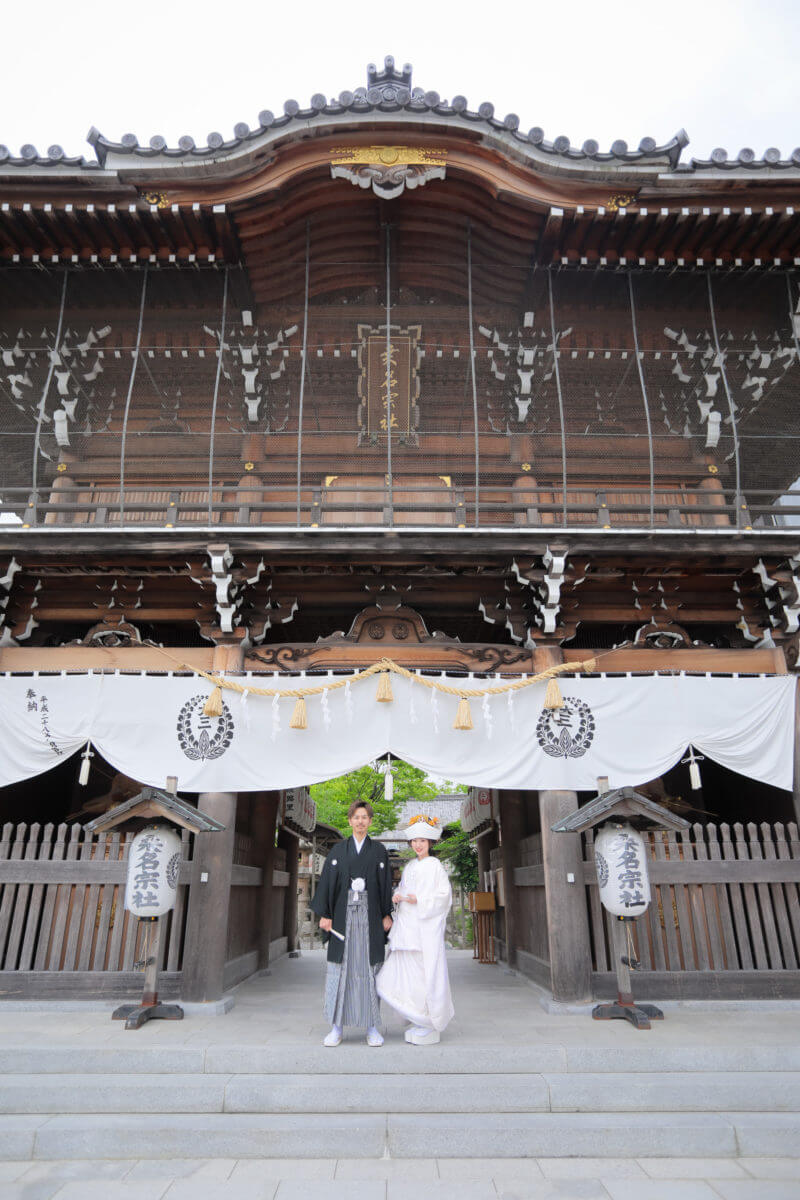
M 359 445 L 393 437 L 416 445 L 421 325 L 359 325 Z

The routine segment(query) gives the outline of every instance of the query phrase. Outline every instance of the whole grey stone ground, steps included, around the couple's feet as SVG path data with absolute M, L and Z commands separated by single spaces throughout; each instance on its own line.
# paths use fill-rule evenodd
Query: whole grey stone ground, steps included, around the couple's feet
M 139 1031 L 0 1004 L 0 1200 L 800 1200 L 800 1006 L 636 1031 L 449 961 L 431 1048 L 323 1048 L 319 952 Z

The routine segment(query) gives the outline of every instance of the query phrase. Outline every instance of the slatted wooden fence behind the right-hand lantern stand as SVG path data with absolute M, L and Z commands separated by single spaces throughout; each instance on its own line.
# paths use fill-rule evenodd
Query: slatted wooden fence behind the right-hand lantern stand
M 642 971 L 633 989 L 656 996 L 800 996 L 800 841 L 794 823 L 694 824 L 651 833 L 652 900 L 633 923 Z M 594 881 L 587 836 L 593 971 L 615 990 L 610 918 Z

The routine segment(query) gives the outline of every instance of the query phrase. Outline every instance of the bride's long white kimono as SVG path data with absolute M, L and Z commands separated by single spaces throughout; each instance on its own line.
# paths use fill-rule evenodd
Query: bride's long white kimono
M 389 935 L 390 955 L 375 984 L 381 1000 L 408 1021 L 441 1032 L 453 1015 L 445 922 L 452 904 L 447 872 L 435 858 L 414 859 L 401 877 L 403 895 Z

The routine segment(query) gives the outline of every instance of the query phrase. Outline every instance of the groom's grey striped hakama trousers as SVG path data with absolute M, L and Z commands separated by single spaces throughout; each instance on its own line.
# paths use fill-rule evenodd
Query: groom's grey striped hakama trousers
M 329 962 L 325 977 L 325 1016 L 331 1025 L 372 1028 L 380 1025 L 380 1000 L 375 973 L 381 962 L 369 965 L 367 893 L 348 892 L 344 955 Z

